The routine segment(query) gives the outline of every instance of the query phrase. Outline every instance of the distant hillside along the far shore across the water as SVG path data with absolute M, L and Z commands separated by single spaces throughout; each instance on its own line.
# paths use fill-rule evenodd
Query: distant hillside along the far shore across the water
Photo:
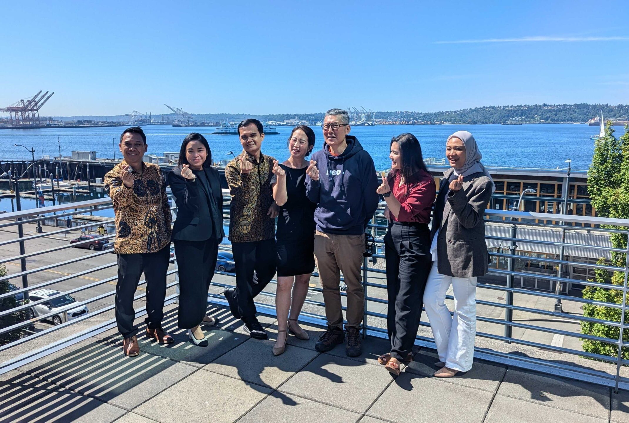
M 386 119 L 387 121 L 416 121 L 416 122 L 443 122 L 443 123 L 503 123 L 516 121 L 521 123 L 573 123 L 587 122 L 594 116 L 600 116 L 601 112 L 605 119 L 629 119 L 629 106 L 618 104 L 523 104 L 518 106 L 483 106 L 473 109 L 451 110 L 441 112 L 413 112 L 413 111 L 387 111 L 376 112 L 376 119 Z M 154 119 L 161 119 L 162 116 L 175 119 L 174 113 L 153 113 Z M 242 119 L 255 118 L 260 121 L 286 121 L 298 118 L 304 121 L 320 121 L 323 119 L 321 113 L 279 113 L 279 114 L 231 114 L 231 113 L 207 113 L 191 114 L 196 121 L 237 122 Z M 126 121 L 124 115 L 118 116 L 55 116 L 55 119 L 65 121 L 76 119 L 91 119 L 95 121 Z

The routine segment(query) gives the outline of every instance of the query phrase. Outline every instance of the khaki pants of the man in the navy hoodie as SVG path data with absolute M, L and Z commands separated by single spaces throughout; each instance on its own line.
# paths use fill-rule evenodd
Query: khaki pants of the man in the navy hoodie
M 343 327 L 340 272 L 347 285 L 347 324 L 359 328 L 365 310 L 360 266 L 365 251 L 365 234 L 333 235 L 316 231 L 315 259 L 323 287 L 325 316 L 329 326 Z

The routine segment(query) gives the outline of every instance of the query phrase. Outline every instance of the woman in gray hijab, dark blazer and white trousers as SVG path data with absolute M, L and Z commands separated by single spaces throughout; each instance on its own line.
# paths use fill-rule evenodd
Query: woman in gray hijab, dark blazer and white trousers
M 437 344 L 436 377 L 468 371 L 474 361 L 476 278 L 487 273 L 489 255 L 483 216 L 494 181 L 481 163 L 474 136 L 457 131 L 448 137 L 431 228 L 433 266 L 424 291 L 426 315 Z M 454 318 L 443 303 L 452 285 Z

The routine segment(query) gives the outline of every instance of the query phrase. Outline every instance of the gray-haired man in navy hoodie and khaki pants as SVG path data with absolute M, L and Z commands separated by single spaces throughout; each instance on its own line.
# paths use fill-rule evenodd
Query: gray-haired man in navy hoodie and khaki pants
M 345 340 L 341 308 L 340 272 L 347 285 L 347 344 L 345 353 L 359 356 L 364 297 L 360 266 L 365 251 L 365 229 L 378 207 L 378 179 L 374 161 L 355 136 L 349 116 L 330 109 L 323 119 L 323 149 L 313 154 L 306 170 L 306 195 L 315 210 L 315 258 L 323 286 L 328 330 L 315 344 L 330 351 Z

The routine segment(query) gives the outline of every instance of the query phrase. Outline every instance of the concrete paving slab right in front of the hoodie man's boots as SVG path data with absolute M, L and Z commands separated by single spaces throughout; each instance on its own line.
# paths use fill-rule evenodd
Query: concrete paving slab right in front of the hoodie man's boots
M 384 368 L 320 354 L 278 389 L 362 414 L 389 383 Z

